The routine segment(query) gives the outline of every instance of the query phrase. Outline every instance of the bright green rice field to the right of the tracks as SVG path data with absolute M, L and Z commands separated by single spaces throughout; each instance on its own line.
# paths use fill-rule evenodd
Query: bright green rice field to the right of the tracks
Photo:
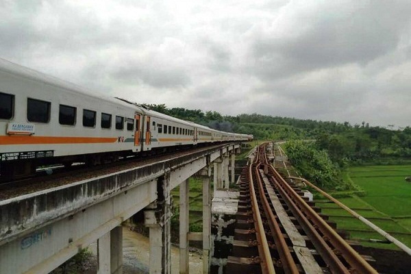
M 411 247 L 411 182 L 406 182 L 407 176 L 411 176 L 411 165 L 351 167 L 347 177 L 365 190 L 365 195 L 338 200 Z M 351 218 L 334 203 L 316 200 L 316 206 L 337 223 L 338 229 L 345 229 L 351 239 L 359 240 L 362 245 L 397 249 L 393 244 L 370 242 L 370 239 L 384 240 L 384 237 Z

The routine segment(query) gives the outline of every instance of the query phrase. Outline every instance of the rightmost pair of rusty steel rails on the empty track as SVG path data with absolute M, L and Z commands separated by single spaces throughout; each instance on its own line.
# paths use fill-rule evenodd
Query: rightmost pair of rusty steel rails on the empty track
M 267 161 L 266 161 L 267 162 Z M 268 162 L 267 162 L 268 164 Z M 284 180 L 284 178 L 279 175 L 279 173 L 268 164 L 268 168 L 272 172 L 271 178 L 273 179 L 273 183 L 277 186 L 279 192 L 282 193 L 285 197 L 289 197 L 288 203 L 290 209 L 295 212 L 296 215 L 299 216 L 299 219 L 303 221 L 300 223 L 303 227 L 305 227 L 306 233 L 309 236 L 312 236 L 312 240 L 316 249 L 321 253 L 323 259 L 327 264 L 329 264 L 330 269 L 333 273 L 352 273 L 357 271 L 356 273 L 377 273 L 373 267 L 368 264 L 358 254 L 343 238 L 341 238 L 332 227 L 329 225 L 319 216 L 316 212 L 308 206 L 306 201 L 304 201 L 298 194 L 291 188 L 289 184 Z M 297 206 L 298 205 L 298 206 Z M 312 221 L 314 225 L 312 225 L 309 221 Z M 317 232 L 316 229 L 323 234 L 323 237 Z M 328 240 L 331 245 L 334 247 L 334 250 L 327 245 Z M 351 269 L 347 269 L 347 267 L 341 262 L 341 260 L 336 256 L 336 253 L 341 254 L 344 260 L 351 266 Z

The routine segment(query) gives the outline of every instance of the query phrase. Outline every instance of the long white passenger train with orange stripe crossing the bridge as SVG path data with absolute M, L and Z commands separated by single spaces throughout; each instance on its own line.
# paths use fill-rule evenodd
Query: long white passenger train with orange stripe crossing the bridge
M 97 95 L 0 58 L 0 181 L 33 175 L 47 164 L 95 165 L 251 138 Z

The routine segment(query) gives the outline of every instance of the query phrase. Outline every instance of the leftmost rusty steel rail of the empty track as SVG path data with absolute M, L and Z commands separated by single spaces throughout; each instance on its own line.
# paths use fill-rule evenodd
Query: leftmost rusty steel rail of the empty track
M 258 161 L 258 152 L 256 158 L 254 158 L 253 163 L 249 165 L 249 188 L 251 197 L 251 206 L 253 208 L 253 218 L 256 220 L 254 222 L 254 227 L 256 228 L 256 236 L 258 241 L 258 253 L 260 254 L 260 265 L 262 273 L 275 273 L 273 258 L 271 258 L 271 252 L 269 249 L 269 244 L 264 232 L 264 225 L 262 224 L 262 219 L 260 212 L 258 210 L 258 201 L 256 196 L 256 190 L 253 186 L 253 169 L 255 169 L 256 162 Z

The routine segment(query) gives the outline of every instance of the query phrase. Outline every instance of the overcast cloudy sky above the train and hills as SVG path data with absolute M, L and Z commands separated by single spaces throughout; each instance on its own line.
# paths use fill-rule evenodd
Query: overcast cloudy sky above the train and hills
M 0 0 L 0 57 L 138 103 L 411 125 L 411 1 Z

